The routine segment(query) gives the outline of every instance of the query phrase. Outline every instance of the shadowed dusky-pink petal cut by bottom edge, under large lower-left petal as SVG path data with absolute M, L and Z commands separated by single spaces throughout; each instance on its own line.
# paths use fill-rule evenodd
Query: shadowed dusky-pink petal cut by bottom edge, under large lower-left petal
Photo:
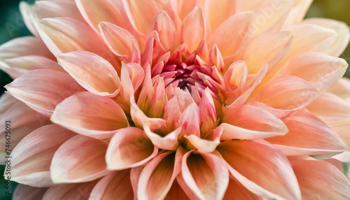
M 99 180 L 87 183 L 64 184 L 50 189 L 43 196 L 43 200 L 52 199 L 88 199 L 94 186 Z

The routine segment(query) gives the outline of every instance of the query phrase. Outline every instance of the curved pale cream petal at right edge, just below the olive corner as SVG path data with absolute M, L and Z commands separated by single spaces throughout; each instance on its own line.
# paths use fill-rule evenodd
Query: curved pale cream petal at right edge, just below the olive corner
M 349 27 L 343 22 L 321 18 L 309 18 L 304 20 L 303 23 L 316 24 L 321 27 L 333 29 L 337 32 L 337 38 L 335 39 L 335 43 L 333 43 L 332 48 L 330 48 L 330 50 L 327 52 L 328 55 L 339 57 L 339 55 L 342 54 L 346 46 L 349 44 Z

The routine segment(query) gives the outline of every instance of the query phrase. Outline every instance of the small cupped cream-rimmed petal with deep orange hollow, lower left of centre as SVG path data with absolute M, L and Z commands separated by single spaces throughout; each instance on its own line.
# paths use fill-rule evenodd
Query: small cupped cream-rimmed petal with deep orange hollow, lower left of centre
M 106 163 L 109 170 L 140 166 L 158 154 L 158 148 L 144 131 L 134 127 L 119 129 L 109 142 Z

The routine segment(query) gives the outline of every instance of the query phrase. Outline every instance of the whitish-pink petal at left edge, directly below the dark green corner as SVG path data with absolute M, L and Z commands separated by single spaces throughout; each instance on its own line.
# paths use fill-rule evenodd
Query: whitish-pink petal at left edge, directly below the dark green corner
M 15 38 L 0 45 L 0 59 L 20 57 L 25 55 L 41 55 L 50 59 L 55 59 L 45 43 L 39 38 L 25 36 Z

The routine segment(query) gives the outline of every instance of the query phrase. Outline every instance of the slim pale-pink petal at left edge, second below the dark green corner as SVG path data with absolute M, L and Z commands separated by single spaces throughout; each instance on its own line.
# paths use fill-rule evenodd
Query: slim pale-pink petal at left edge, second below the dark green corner
M 0 69 L 8 73 L 13 79 L 34 69 L 64 71 L 57 62 L 39 55 L 27 55 L 5 59 L 3 62 L 0 62 Z

